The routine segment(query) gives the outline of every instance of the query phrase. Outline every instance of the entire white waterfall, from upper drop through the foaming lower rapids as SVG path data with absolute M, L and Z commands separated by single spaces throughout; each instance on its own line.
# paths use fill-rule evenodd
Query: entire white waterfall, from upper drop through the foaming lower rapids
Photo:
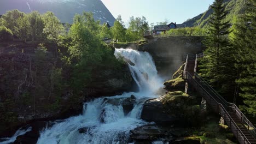
M 140 119 L 144 101 L 158 97 L 156 92 L 163 87 L 164 80 L 158 76 L 148 52 L 115 49 L 114 55 L 132 63 L 129 68 L 139 92 L 86 102 L 82 115 L 55 121 L 54 125 L 40 132 L 37 143 L 132 143 L 130 130 L 148 124 Z M 15 138 L 0 143 L 11 143 Z

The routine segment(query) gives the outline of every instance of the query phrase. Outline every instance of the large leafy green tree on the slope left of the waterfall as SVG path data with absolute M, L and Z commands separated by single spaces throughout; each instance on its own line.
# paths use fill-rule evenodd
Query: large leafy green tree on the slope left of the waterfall
M 75 15 L 69 31 L 72 41 L 69 52 L 73 59 L 72 87 L 77 93 L 88 86 L 94 70 L 102 67 L 118 67 L 112 48 L 102 42 L 100 21 L 95 21 L 92 13 Z

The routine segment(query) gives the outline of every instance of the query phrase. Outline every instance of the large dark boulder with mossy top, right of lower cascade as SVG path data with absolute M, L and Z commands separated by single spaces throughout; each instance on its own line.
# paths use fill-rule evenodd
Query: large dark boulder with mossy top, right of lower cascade
M 183 92 L 168 92 L 158 99 L 147 100 L 141 118 L 160 125 L 188 126 L 200 122 L 203 111 L 194 97 Z

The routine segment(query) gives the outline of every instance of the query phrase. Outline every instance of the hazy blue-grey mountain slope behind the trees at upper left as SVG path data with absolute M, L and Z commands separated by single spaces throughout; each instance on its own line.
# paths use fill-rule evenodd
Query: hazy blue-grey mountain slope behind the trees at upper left
M 8 10 L 18 9 L 25 13 L 33 10 L 39 13 L 53 11 L 61 22 L 73 22 L 75 14 L 82 14 L 83 11 L 94 13 L 96 20 L 101 23 L 108 22 L 110 26 L 114 25 L 115 18 L 101 2 L 101 0 L 1 0 L 0 15 Z

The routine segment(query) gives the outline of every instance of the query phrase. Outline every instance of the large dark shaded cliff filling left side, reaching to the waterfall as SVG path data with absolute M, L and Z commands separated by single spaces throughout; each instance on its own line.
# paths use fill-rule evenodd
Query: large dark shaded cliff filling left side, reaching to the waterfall
M 69 69 L 54 52 L 38 59 L 39 42 L 0 45 L 0 137 L 22 124 L 66 118 L 82 112 L 86 100 L 131 91 L 133 79 L 127 64 L 121 70 L 98 67 L 80 94 L 71 86 Z M 45 44 L 50 47 L 50 44 Z M 53 85 L 51 85 L 53 83 Z

